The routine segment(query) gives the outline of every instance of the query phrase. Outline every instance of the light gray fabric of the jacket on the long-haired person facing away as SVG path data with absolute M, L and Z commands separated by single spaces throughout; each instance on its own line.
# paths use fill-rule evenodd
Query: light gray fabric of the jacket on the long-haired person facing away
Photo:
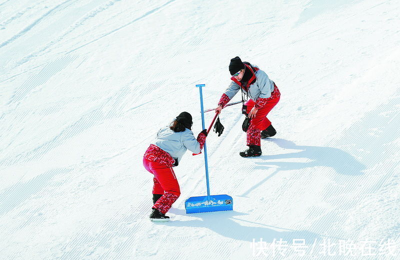
M 151 144 L 167 152 L 177 162 L 187 149 L 195 154 L 200 153 L 200 144 L 194 138 L 193 132 L 187 128 L 183 132 L 174 132 L 168 126 L 162 127 Z

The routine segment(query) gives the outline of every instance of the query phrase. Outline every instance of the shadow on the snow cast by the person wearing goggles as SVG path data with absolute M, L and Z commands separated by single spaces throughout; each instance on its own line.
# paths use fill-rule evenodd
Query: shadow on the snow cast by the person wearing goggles
M 292 153 L 285 154 L 276 154 L 276 155 L 264 155 L 258 158 L 264 159 L 266 162 L 256 162 L 258 166 L 255 169 L 265 169 L 270 168 L 271 165 L 276 166 L 276 170 L 265 177 L 262 181 L 255 184 L 253 187 L 244 192 L 241 196 L 246 196 L 255 188 L 259 187 L 261 184 L 266 182 L 272 176 L 274 176 L 279 171 L 288 171 L 288 170 L 301 170 L 304 168 L 313 168 L 318 166 L 323 167 L 331 167 L 338 174 L 347 175 L 347 176 L 358 176 L 362 175 L 366 167 L 365 165 L 358 162 L 354 157 L 350 154 L 331 147 L 322 147 L 322 146 L 305 146 L 305 145 L 296 145 L 292 141 L 280 139 L 280 138 L 269 138 L 266 139 L 270 142 L 277 144 L 279 147 L 284 149 L 292 149 L 292 150 L 300 150 Z M 307 162 L 276 162 L 276 161 L 267 161 L 267 160 L 275 160 L 275 159 L 292 159 L 292 158 L 307 158 Z

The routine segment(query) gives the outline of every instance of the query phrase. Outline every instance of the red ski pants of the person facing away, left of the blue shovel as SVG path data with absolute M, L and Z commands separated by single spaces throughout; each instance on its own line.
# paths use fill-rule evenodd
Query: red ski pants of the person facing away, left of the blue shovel
M 173 172 L 172 167 L 167 167 L 145 158 L 143 158 L 143 166 L 149 173 L 154 175 L 152 193 L 163 194 L 152 208 L 165 214 L 180 195 L 179 184 L 176 180 L 175 173 Z

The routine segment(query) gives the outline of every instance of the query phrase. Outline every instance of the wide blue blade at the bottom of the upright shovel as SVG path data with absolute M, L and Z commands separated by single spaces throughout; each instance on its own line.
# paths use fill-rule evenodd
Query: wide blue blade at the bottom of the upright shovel
M 186 214 L 203 213 L 213 211 L 231 211 L 233 210 L 232 197 L 228 195 L 210 195 L 190 197 L 184 202 Z

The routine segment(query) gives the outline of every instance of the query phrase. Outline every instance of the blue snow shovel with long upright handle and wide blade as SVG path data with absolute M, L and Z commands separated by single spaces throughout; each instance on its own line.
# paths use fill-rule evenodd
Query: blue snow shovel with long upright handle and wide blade
M 201 123 L 202 129 L 204 129 L 204 109 L 203 109 L 203 94 L 202 87 L 205 84 L 196 85 L 200 89 L 200 106 L 201 106 Z M 216 115 L 214 117 L 214 120 Z M 213 121 L 214 121 L 213 120 Z M 207 132 L 211 129 L 213 124 L 210 124 Z M 209 195 L 209 182 L 208 182 L 208 164 L 207 164 L 207 147 L 204 143 L 204 160 L 205 160 L 205 181 L 207 184 L 207 196 L 190 197 L 184 202 L 186 213 L 202 213 L 202 212 L 213 212 L 213 211 L 231 211 L 233 210 L 232 197 L 228 195 Z

